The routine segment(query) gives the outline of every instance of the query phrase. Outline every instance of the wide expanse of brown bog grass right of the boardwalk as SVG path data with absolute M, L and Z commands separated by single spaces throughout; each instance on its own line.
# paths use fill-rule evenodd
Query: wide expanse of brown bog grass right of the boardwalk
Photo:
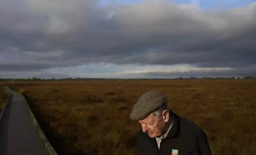
M 145 92 L 208 135 L 213 155 L 256 153 L 256 81 L 121 80 L 10 83 L 25 94 L 60 155 L 137 155 L 140 125 L 129 114 Z

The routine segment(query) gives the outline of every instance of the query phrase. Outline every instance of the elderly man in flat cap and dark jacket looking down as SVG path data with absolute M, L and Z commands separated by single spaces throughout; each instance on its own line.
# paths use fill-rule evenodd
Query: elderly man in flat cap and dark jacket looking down
M 142 125 L 136 139 L 141 155 L 211 155 L 205 132 L 169 110 L 159 91 L 144 93 L 130 119 Z

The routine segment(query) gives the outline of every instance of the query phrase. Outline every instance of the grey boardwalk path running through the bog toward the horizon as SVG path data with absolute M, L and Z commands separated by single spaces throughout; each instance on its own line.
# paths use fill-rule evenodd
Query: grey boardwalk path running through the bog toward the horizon
M 0 155 L 50 155 L 35 128 L 25 98 L 11 93 L 0 121 Z

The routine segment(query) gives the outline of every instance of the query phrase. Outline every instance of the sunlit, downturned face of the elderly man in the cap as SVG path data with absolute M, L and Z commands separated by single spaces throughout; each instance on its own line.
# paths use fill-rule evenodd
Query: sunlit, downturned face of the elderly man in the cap
M 147 132 L 151 138 L 161 136 L 165 125 L 164 117 L 157 119 L 152 113 L 139 123 L 142 125 L 142 131 Z

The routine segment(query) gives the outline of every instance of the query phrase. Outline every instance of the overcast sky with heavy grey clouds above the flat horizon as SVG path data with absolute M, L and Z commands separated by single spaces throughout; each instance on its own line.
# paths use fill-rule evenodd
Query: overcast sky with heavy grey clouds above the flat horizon
M 180 76 L 256 76 L 256 2 L 0 1 L 0 78 Z

